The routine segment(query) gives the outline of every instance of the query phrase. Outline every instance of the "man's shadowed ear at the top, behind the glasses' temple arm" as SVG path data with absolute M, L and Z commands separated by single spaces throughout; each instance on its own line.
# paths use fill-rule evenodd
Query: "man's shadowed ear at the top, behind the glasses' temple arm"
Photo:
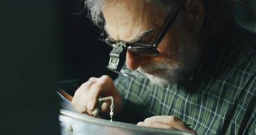
M 203 0 L 186 0 L 185 2 L 185 13 L 189 17 L 192 30 L 195 32 L 201 29 L 204 21 L 204 2 Z

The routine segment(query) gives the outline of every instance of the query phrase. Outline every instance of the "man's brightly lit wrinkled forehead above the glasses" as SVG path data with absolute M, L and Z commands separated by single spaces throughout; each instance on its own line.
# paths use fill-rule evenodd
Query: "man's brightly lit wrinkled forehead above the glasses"
M 110 37 L 126 42 L 136 39 L 143 31 L 159 29 L 165 20 L 163 10 L 156 10 L 144 0 L 109 1 L 102 12 Z

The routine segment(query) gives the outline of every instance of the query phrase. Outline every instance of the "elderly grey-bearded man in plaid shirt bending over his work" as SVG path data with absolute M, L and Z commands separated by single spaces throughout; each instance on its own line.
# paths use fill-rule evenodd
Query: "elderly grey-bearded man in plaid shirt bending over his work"
M 256 134 L 256 38 L 232 20 L 222 0 L 87 0 L 108 68 L 90 78 L 73 106 L 92 114 L 113 96 L 115 114 L 139 126 L 194 134 Z M 122 69 L 118 57 L 126 52 Z M 132 77 L 127 77 L 132 76 Z M 109 112 L 104 102 L 102 112 Z M 191 124 L 191 125 L 188 125 Z

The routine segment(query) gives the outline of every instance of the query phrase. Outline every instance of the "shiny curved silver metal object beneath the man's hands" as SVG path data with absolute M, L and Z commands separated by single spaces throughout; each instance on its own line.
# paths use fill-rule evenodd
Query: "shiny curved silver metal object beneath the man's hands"
M 109 135 L 150 135 L 150 134 L 173 134 L 188 135 L 190 133 L 167 130 L 160 128 L 140 127 L 136 124 L 111 122 L 110 120 L 94 118 L 87 114 L 73 113 L 71 111 L 61 110 L 59 120 L 61 122 L 62 134 L 109 134 Z

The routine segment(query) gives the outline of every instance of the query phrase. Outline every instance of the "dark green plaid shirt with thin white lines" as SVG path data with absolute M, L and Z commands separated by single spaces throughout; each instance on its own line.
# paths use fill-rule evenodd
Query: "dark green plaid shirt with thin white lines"
M 174 115 L 197 134 L 256 134 L 256 38 L 234 26 L 209 43 L 192 79 L 156 86 L 145 78 L 116 78 L 122 121 Z

